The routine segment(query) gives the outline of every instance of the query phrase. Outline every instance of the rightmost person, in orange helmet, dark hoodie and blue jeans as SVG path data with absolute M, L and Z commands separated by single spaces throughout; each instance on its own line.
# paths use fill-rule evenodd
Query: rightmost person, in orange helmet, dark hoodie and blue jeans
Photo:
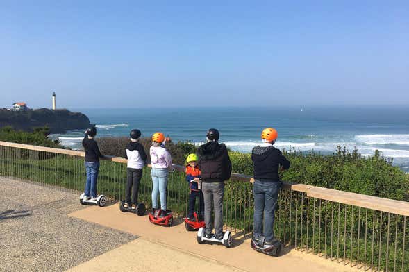
M 254 231 L 253 239 L 265 236 L 265 245 L 274 243 L 274 212 L 277 206 L 278 192 L 282 182 L 278 178 L 278 169 L 290 167 L 290 162 L 273 144 L 278 136 L 274 128 L 262 130 L 263 144 L 255 146 L 251 151 L 251 160 L 254 167 Z M 264 232 L 262 231 L 262 217 L 264 213 Z

